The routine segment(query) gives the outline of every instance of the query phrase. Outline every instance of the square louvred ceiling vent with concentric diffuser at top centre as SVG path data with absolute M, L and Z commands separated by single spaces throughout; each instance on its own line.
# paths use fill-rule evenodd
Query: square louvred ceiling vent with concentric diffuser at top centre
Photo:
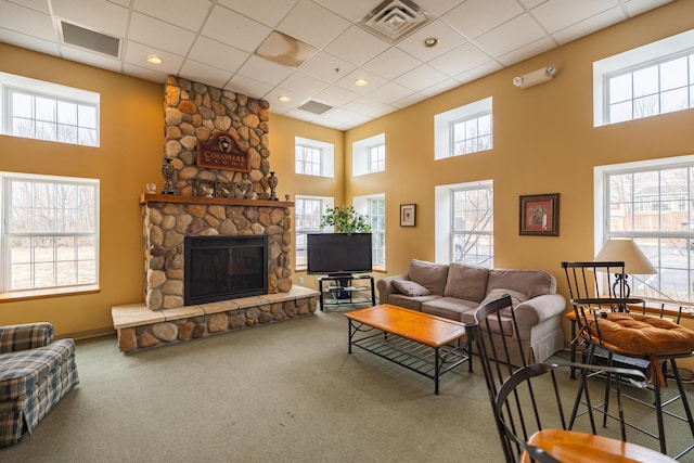
M 391 43 L 397 43 L 432 20 L 433 17 L 411 0 L 386 0 L 357 24 Z

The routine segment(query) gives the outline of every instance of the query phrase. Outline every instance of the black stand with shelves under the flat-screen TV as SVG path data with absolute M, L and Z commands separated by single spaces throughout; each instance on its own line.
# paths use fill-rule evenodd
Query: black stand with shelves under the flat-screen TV
M 369 280 L 369 285 L 360 285 L 360 280 Z M 332 283 L 325 286 L 325 283 Z M 331 273 L 318 278 L 318 286 L 321 292 L 320 308 L 325 306 L 339 306 L 344 304 L 370 304 L 376 305 L 376 294 L 373 276 L 369 274 Z M 325 300 L 325 295 L 330 298 Z M 369 296 L 371 295 L 371 296 Z

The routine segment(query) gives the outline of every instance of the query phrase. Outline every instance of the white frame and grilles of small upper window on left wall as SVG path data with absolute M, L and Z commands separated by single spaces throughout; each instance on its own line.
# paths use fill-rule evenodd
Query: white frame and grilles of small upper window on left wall
M 34 133 L 30 137 L 14 132 L 13 119 L 16 116 L 16 112 L 13 107 L 13 95 L 15 94 L 23 94 L 31 99 L 30 114 L 22 117 L 22 119 L 29 121 L 33 127 Z M 60 111 L 60 105 L 76 106 L 77 119 L 74 123 L 66 120 L 61 121 L 57 113 L 53 113 L 48 119 L 42 119 L 42 116 L 36 112 L 37 99 L 54 102 L 54 111 Z M 13 137 L 98 147 L 101 138 L 100 99 L 99 93 L 88 90 L 0 73 L 0 107 L 2 107 L 2 111 L 0 111 L 0 130 L 1 133 Z M 81 108 L 94 112 L 93 127 L 80 123 L 79 113 Z M 46 137 L 38 136 L 38 129 L 36 128 L 37 123 L 50 126 L 53 133 L 49 133 Z M 76 141 L 67 141 L 65 138 L 61 138 L 61 129 L 75 130 L 77 132 L 75 134 Z M 81 134 L 86 132 L 89 132 L 90 136 Z

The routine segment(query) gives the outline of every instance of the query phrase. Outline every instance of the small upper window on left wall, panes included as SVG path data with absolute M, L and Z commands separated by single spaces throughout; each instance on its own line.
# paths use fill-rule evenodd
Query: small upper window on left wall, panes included
M 2 133 L 99 146 L 99 93 L 0 73 Z

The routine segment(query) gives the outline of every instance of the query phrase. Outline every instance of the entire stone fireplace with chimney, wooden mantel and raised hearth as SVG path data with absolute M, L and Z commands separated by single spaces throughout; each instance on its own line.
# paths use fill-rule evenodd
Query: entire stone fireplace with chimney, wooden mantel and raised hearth
M 167 78 L 164 99 L 162 173 L 172 191 L 140 196 L 144 303 L 112 309 L 119 348 L 128 351 L 313 313 L 319 293 L 292 285 L 294 203 L 271 194 L 268 102 L 174 76 Z M 198 165 L 198 142 L 205 145 L 220 133 L 243 154 L 247 169 Z M 187 273 L 201 270 L 187 266 L 191 240 L 234 236 L 267 243 L 262 290 L 246 292 L 249 279 L 230 270 L 215 283 L 218 290 L 231 288 L 230 294 L 214 300 L 191 297 Z M 233 285 L 241 286 L 237 294 L 232 294 Z

